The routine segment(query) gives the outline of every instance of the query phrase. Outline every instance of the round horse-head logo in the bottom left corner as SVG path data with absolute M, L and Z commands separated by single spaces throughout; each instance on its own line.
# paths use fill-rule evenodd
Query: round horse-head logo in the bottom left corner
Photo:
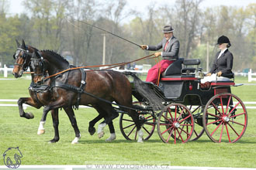
M 21 164 L 22 153 L 19 151 L 19 147 L 8 148 L 4 154 L 4 163 L 8 168 L 19 168 Z

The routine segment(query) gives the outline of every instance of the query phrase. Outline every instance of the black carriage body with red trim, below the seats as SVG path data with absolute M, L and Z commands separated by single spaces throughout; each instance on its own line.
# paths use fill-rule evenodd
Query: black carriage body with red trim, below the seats
M 213 82 L 206 89 L 201 89 L 199 80 L 189 76 L 165 76 L 159 83 L 166 101 L 185 105 L 206 105 L 211 97 L 218 93 L 231 93 L 230 82 Z M 227 99 L 223 100 L 227 104 Z

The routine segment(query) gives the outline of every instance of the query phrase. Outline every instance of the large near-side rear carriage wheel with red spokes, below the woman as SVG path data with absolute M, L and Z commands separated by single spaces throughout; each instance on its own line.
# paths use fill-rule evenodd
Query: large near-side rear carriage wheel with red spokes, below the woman
M 247 110 L 232 93 L 213 96 L 206 104 L 202 119 L 206 134 L 218 143 L 238 141 L 247 128 Z

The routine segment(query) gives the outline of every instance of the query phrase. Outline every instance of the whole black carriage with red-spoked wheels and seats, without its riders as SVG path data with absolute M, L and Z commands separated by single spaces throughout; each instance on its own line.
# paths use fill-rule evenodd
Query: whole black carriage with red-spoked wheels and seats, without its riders
M 139 89 L 133 86 L 133 96 L 138 100 L 135 104 L 144 108 L 141 115 L 147 119 L 143 128 L 147 134 L 145 140 L 156 126 L 166 143 L 194 141 L 204 131 L 214 142 L 236 142 L 242 137 L 247 127 L 247 110 L 240 98 L 231 93 L 230 87 L 236 86 L 234 75 L 230 75 L 233 80 L 215 81 L 203 87 L 199 63 L 199 59 L 178 59 L 161 75 L 159 86 L 144 82 L 149 87 L 147 92 L 153 91 L 161 100 L 161 112 L 157 113 L 150 105 L 147 100 L 150 95 L 146 98 L 141 95 L 142 84 L 137 86 Z M 126 139 L 137 138 L 130 121 L 126 114 L 120 116 L 120 129 Z

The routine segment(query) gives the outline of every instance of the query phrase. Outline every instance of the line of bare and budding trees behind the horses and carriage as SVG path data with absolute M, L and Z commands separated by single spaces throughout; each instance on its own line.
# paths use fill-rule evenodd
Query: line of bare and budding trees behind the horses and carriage
M 103 34 L 106 29 L 137 44 L 155 45 L 163 38 L 164 25 L 174 27 L 180 40 L 179 56 L 199 58 L 206 70 L 213 62 L 216 40 L 230 38 L 234 70 L 256 66 L 256 3 L 246 7 L 202 8 L 203 0 L 176 0 L 175 5 L 147 5 L 147 13 L 128 8 L 126 0 L 24 0 L 25 12 L 9 15 L 9 1 L 0 0 L 0 63 L 13 64 L 15 39 L 37 49 L 52 49 L 73 56 L 76 66 L 102 63 Z M 128 17 L 133 19 L 127 21 Z M 79 22 L 82 21 L 82 22 Z M 106 34 L 106 63 L 122 63 L 153 52 Z M 154 59 L 138 63 L 154 64 Z

